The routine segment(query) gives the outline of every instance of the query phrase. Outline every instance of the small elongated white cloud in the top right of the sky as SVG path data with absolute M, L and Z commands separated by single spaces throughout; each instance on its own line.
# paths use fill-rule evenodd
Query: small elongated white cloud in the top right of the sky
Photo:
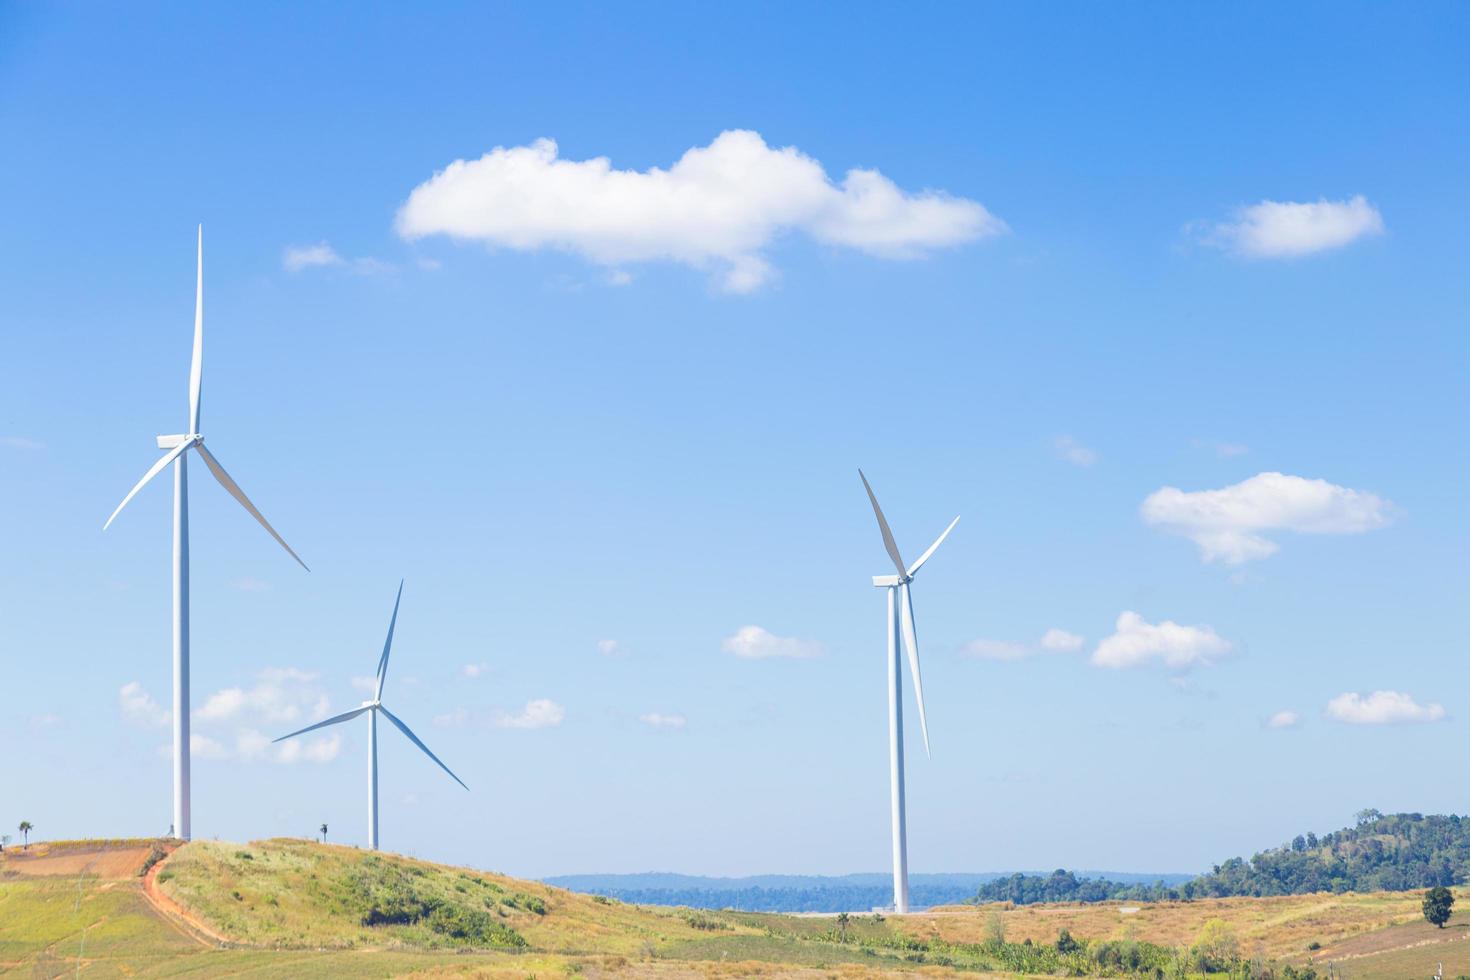
M 1207 228 L 1204 241 L 1250 259 L 1295 259 L 1383 232 L 1383 216 L 1358 194 L 1345 201 L 1261 201 Z

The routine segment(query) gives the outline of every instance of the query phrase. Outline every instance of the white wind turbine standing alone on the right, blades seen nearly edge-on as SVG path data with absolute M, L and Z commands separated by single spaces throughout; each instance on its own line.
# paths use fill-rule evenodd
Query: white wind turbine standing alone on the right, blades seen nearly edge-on
M 888 529 L 883 508 L 878 505 L 873 488 L 869 486 L 863 470 L 857 475 L 867 491 L 867 500 L 873 504 L 873 514 L 878 517 L 878 529 L 883 535 L 883 548 L 894 560 L 898 574 L 875 574 L 873 585 L 888 589 L 888 777 L 892 793 L 894 820 L 894 911 L 908 911 L 908 832 L 904 815 L 904 708 L 903 708 L 903 673 L 898 667 L 900 633 L 903 646 L 908 652 L 908 673 L 914 679 L 914 699 L 919 702 L 919 729 L 923 732 L 923 751 L 929 755 L 929 723 L 923 714 L 923 677 L 919 673 L 919 636 L 914 632 L 914 602 L 908 594 L 908 583 L 919 574 L 919 569 L 950 536 L 954 526 L 960 523 L 956 517 L 944 529 L 929 550 L 919 555 L 911 566 L 904 567 L 903 555 L 898 554 L 898 544 L 894 532 Z M 895 608 L 897 607 L 897 608 Z M 900 629 L 901 626 L 901 629 Z

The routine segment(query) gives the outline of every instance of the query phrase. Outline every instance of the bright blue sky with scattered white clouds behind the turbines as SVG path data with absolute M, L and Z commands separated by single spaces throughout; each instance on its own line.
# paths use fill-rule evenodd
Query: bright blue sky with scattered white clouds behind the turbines
M 101 523 L 184 426 L 198 222 L 203 429 L 312 573 L 193 467 L 196 836 L 365 839 L 359 726 L 257 742 L 365 696 L 406 577 L 385 701 L 473 792 L 388 733 L 384 846 L 883 868 L 858 466 L 910 555 L 963 514 L 916 870 L 1466 810 L 1466 10 L 788 7 L 0 9 L 0 817 L 168 826 L 166 483 Z M 660 197 L 729 131 L 810 166 Z M 406 234 L 541 138 L 626 173 Z

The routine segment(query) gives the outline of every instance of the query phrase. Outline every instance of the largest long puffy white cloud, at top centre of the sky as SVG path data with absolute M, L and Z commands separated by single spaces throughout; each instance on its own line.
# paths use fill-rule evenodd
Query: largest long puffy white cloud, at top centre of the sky
M 644 262 L 714 267 L 725 289 L 750 292 L 775 275 L 761 253 L 784 232 L 911 259 L 998 235 L 1005 223 L 978 201 L 907 194 L 878 170 L 853 169 L 836 184 L 795 147 L 773 148 L 757 132 L 731 129 L 669 169 L 564 160 L 551 140 L 495 147 L 413 188 L 397 229 L 409 239 L 554 248 L 614 275 Z

